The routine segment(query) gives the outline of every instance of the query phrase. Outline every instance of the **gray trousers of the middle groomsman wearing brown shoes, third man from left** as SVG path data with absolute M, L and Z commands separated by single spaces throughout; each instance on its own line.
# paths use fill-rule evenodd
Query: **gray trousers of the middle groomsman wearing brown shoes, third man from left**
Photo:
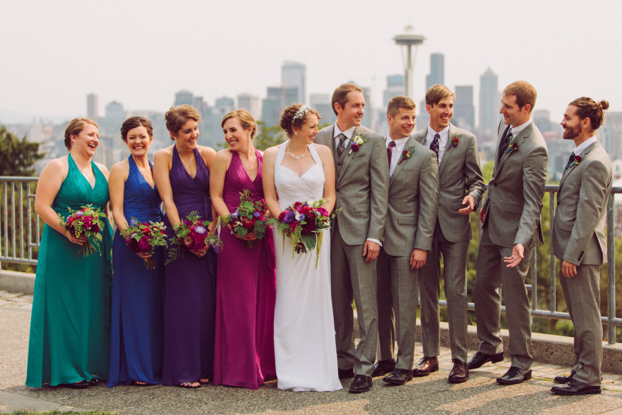
M 449 316 L 451 358 L 466 362 L 466 326 L 469 323 L 466 299 L 466 253 L 469 241 L 450 242 L 436 223 L 432 249 L 420 269 L 421 337 L 426 358 L 440 355 L 438 299 L 440 295 L 440 256 L 443 256 L 444 293 Z

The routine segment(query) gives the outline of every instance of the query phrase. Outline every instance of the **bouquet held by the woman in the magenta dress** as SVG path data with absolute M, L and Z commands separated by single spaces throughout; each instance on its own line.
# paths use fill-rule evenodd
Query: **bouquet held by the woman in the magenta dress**
M 267 207 L 265 200 L 261 201 L 252 200 L 252 193 L 249 190 L 240 192 L 240 205 L 236 208 L 236 211 L 227 216 L 220 217 L 220 223 L 222 225 L 231 225 L 233 228 L 232 234 L 237 234 L 238 237 L 245 237 L 249 232 L 255 232 L 255 241 L 246 241 L 247 248 L 254 248 L 256 241 L 262 239 L 265 235 L 265 230 L 270 228 L 274 223 L 274 219 L 265 219 Z

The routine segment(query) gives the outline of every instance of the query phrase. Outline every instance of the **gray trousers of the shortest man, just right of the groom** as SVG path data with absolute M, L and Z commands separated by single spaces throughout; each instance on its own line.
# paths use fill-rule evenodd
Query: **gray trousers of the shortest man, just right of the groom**
M 390 303 L 395 313 L 395 338 L 397 339 L 397 368 L 413 369 L 415 358 L 415 329 L 417 326 L 417 280 L 419 271 L 411 270 L 411 257 L 393 257 L 380 248 L 378 275 L 389 282 Z M 381 318 L 380 305 L 378 311 Z M 386 315 L 383 323 L 386 322 Z M 390 320 L 386 323 L 390 323 Z M 389 324 L 379 324 L 387 329 Z M 386 344 L 382 339 L 380 344 Z M 384 355 L 382 356 L 383 360 Z M 390 358 L 390 357 L 389 357 Z

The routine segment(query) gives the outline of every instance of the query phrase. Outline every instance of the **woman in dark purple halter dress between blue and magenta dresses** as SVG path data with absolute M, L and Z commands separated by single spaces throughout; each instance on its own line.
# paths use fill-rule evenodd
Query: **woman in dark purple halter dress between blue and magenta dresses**
M 174 145 L 156 153 L 153 174 L 164 202 L 167 235 L 193 211 L 210 220 L 209 170 L 216 152 L 197 145 L 200 113 L 189 105 L 166 113 Z M 210 229 L 211 231 L 211 225 Z M 198 388 L 214 369 L 216 252 L 190 250 L 164 266 L 162 384 Z

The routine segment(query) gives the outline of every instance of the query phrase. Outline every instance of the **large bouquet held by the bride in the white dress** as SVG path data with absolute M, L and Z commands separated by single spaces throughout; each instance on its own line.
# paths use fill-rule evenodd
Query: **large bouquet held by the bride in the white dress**
M 319 261 L 319 252 L 322 248 L 322 231 L 330 228 L 330 219 L 339 214 L 339 210 L 328 215 L 328 210 L 322 208 L 324 199 L 296 202 L 279 214 L 277 230 L 283 234 L 283 250 L 285 250 L 285 236 L 292 239 L 292 257 L 294 252 L 305 254 L 317 248 L 315 268 Z

